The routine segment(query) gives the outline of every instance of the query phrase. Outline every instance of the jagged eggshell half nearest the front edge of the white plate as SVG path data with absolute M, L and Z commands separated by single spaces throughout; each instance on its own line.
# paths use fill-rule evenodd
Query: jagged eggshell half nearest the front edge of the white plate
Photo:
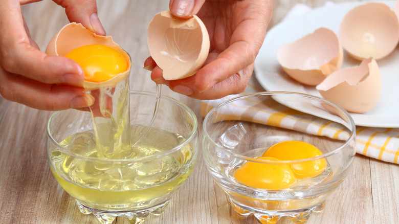
M 352 113 L 372 109 L 381 96 L 381 76 L 373 58 L 359 66 L 339 70 L 316 86 L 322 97 Z

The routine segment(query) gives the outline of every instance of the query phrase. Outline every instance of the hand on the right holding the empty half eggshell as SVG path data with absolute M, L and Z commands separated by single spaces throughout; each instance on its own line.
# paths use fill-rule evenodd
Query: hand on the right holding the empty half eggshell
M 272 16 L 272 0 L 171 0 L 171 13 L 180 18 L 196 14 L 210 37 L 205 65 L 194 76 L 165 80 L 151 57 L 144 62 L 151 79 L 172 91 L 196 99 L 218 99 L 245 90 L 255 57 Z

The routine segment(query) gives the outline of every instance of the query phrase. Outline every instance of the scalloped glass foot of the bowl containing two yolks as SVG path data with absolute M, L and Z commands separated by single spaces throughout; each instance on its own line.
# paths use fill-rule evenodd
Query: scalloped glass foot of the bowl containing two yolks
M 262 224 L 275 224 L 281 217 L 289 217 L 292 222 L 295 224 L 299 223 L 306 223 L 307 219 L 312 215 L 313 212 L 321 212 L 324 209 L 325 200 L 322 201 L 320 204 L 315 205 L 313 207 L 308 207 L 305 209 L 299 209 L 296 211 L 287 211 L 287 212 L 275 212 L 271 211 L 268 213 L 267 211 L 264 212 L 253 212 L 248 211 L 247 208 L 243 208 L 239 204 L 235 203 L 235 201 L 231 200 L 232 207 L 234 210 L 241 216 L 249 216 L 254 215 L 256 219 Z

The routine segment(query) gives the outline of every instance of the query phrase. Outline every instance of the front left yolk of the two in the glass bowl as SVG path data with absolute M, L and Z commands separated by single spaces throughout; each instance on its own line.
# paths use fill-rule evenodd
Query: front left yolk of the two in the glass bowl
M 278 161 L 278 159 L 271 157 L 259 157 L 256 160 Z M 234 172 L 234 178 L 243 185 L 268 190 L 289 188 L 296 182 L 295 174 L 290 165 L 252 161 L 247 161 L 237 168 Z

